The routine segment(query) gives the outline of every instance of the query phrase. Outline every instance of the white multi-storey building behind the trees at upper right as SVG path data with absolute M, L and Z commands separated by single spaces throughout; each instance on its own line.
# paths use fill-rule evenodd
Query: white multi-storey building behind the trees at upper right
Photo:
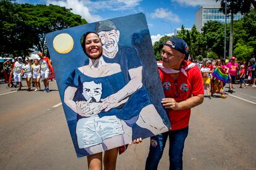
M 197 26 L 197 30 L 201 33 L 201 29 L 205 23 L 210 20 L 218 21 L 220 23 L 225 23 L 225 14 L 220 12 L 221 6 L 201 6 L 197 12 L 195 12 L 195 26 Z M 234 20 L 239 20 L 243 15 L 238 13 L 234 15 Z M 231 21 L 231 16 L 227 14 L 227 23 Z

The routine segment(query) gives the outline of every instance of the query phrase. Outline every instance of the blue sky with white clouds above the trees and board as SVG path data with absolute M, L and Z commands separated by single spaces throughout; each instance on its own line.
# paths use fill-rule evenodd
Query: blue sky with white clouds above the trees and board
M 145 14 L 152 42 L 173 34 L 176 28 L 191 28 L 195 12 L 215 0 L 17 0 L 18 3 L 54 4 L 71 8 L 88 23 L 142 12 Z

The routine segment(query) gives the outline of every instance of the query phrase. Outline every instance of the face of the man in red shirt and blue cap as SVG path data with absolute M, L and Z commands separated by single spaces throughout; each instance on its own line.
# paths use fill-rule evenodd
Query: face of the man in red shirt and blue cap
M 171 42 L 167 41 L 166 43 Z M 179 69 L 182 60 L 184 60 L 184 54 L 173 49 L 169 46 L 163 46 L 161 57 L 163 60 L 163 66 L 166 68 Z

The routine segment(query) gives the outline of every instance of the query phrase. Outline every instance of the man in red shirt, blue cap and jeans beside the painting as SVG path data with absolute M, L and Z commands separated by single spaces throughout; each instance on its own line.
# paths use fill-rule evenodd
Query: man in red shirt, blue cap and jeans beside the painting
M 182 153 L 189 132 L 190 108 L 203 102 L 203 79 L 195 63 L 184 60 L 189 54 L 187 43 L 171 38 L 164 43 L 158 63 L 164 98 L 161 102 L 168 109 L 171 130 L 150 139 L 150 152 L 145 169 L 157 169 L 169 136 L 170 169 L 182 169 Z

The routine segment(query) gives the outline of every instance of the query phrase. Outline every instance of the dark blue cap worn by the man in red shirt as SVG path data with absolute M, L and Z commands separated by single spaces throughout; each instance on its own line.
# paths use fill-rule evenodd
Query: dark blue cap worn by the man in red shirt
M 166 43 L 167 41 L 171 41 L 171 44 Z M 163 44 L 164 46 L 168 46 L 173 49 L 176 49 L 177 51 L 179 51 L 185 55 L 189 54 L 189 47 L 187 47 L 187 43 L 183 39 L 173 37 L 173 38 L 168 39 L 167 41 L 164 42 L 164 44 Z

